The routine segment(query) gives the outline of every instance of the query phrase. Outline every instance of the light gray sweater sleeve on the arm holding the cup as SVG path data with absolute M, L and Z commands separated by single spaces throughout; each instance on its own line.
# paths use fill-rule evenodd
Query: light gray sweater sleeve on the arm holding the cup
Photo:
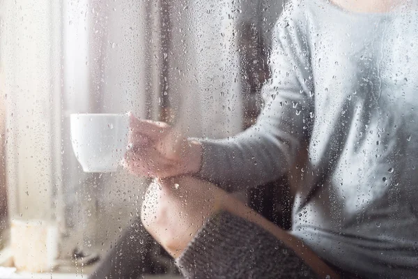
M 201 140 L 199 176 L 226 190 L 268 183 L 293 165 L 307 140 L 313 86 L 302 6 L 286 6 L 274 30 L 270 68 L 257 123 L 224 140 Z

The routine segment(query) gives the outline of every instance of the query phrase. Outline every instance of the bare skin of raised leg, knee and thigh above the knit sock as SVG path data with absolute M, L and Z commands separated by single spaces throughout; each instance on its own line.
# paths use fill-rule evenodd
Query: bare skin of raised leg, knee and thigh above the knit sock
M 176 258 L 207 220 L 221 211 L 263 228 L 274 236 L 273 239 L 293 250 L 320 278 L 339 278 L 302 241 L 206 181 L 184 176 L 152 183 L 146 194 L 141 219 L 148 232 Z

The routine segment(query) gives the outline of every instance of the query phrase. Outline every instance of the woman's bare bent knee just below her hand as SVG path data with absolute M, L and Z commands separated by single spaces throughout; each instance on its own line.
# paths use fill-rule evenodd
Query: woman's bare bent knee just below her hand
M 217 211 L 222 195 L 227 194 L 192 177 L 155 181 L 146 191 L 141 221 L 155 240 L 176 256 Z

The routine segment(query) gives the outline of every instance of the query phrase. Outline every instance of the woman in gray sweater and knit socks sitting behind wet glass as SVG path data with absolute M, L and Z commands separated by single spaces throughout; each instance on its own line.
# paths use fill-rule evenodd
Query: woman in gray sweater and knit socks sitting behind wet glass
M 417 278 L 415 1 L 294 0 L 256 125 L 180 140 L 132 116 L 141 220 L 192 278 Z M 227 192 L 293 178 L 285 232 Z M 210 181 L 210 182 L 209 182 Z

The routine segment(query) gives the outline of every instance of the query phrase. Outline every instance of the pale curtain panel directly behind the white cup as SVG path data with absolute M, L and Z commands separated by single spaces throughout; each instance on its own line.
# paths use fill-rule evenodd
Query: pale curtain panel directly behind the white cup
M 146 180 L 124 171 L 84 174 L 72 154 L 68 116 L 125 113 L 155 118 L 158 88 L 152 44 L 153 5 L 146 1 L 64 1 L 64 196 L 70 243 L 112 241 L 137 218 Z M 153 62 L 155 60 L 155 62 Z M 81 209 L 81 210 L 80 210 Z

